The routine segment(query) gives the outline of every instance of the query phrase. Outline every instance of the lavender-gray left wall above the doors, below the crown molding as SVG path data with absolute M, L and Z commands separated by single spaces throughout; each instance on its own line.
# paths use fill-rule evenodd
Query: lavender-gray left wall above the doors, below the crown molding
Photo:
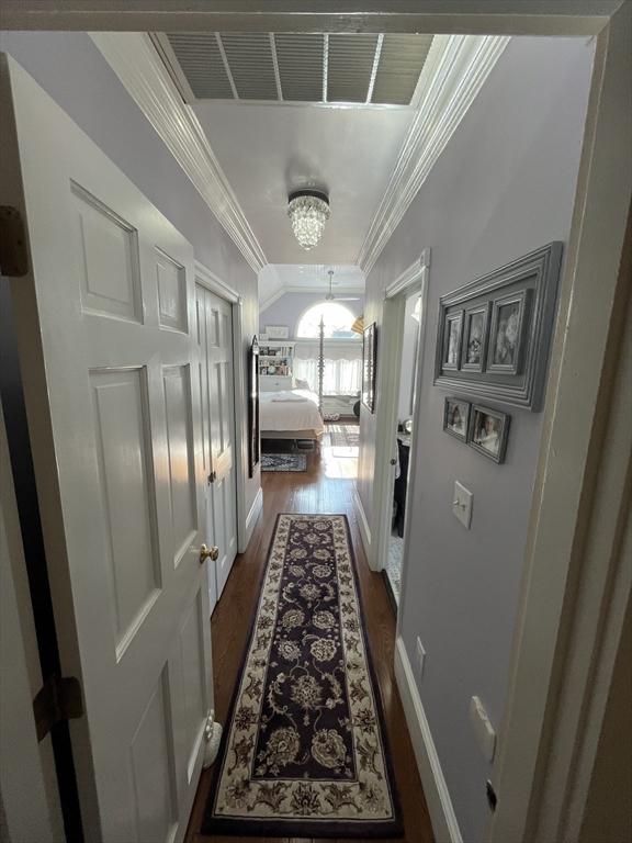
M 189 178 L 81 32 L 0 32 L 9 53 L 193 245 L 195 258 L 244 299 L 245 338 L 258 330 L 257 276 Z M 246 353 L 247 344 L 245 341 Z M 247 480 L 247 506 L 260 486 Z

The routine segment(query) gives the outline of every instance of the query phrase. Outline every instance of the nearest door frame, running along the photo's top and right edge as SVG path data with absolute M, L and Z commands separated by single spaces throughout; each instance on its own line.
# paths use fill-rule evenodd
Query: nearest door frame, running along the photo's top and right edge
M 489 10 L 492 4 L 494 9 Z M 253 12 L 251 0 L 233 0 L 229 10 L 219 2 L 153 0 L 144 3 L 143 10 L 123 14 L 120 4 L 111 0 L 67 0 L 63 10 L 59 3 L 33 9 L 22 0 L 4 0 L 2 24 L 19 30 L 345 32 L 350 20 L 356 20 L 356 25 L 368 32 L 597 36 L 573 225 L 560 290 L 508 704 L 494 774 L 498 808 L 486 834 L 489 843 L 518 843 L 532 839 L 530 829 L 544 806 L 549 822 L 556 822 L 563 831 L 567 828 L 555 783 L 542 783 L 540 775 L 555 730 L 563 721 L 564 706 L 556 711 L 551 705 L 560 688 L 560 674 L 571 666 L 563 643 L 572 642 L 584 657 L 592 657 L 598 631 L 618 620 L 617 607 L 600 603 L 597 594 L 591 594 L 588 603 L 580 600 L 574 585 L 587 548 L 586 509 L 594 493 L 599 447 L 594 431 L 603 406 L 601 387 L 611 374 L 606 350 L 619 330 L 612 317 L 621 307 L 621 295 L 616 293 L 632 194 L 631 5 L 623 0 L 495 0 L 478 4 L 483 11 L 477 11 L 472 0 L 454 0 L 441 14 L 436 0 L 398 0 L 396 4 L 393 0 L 377 0 L 370 9 L 366 5 L 357 0 L 336 0 L 321 3 L 315 12 L 313 0 L 270 0 L 264 12 Z M 191 14 L 193 9 L 195 14 Z M 590 345 L 586 336 L 590 336 Z M 613 493 L 614 498 L 617 494 L 620 492 Z M 618 525 L 608 519 L 600 528 L 602 541 L 617 540 Z M 552 559 L 556 561 L 554 576 Z M 569 617 L 574 619 L 572 627 Z M 579 620 L 592 634 L 589 641 L 580 634 Z M 533 682 L 534 675 L 539 682 Z M 602 678 L 590 678 L 597 690 Z M 587 687 L 584 682 L 583 689 Z M 558 762 L 568 764 L 575 774 L 577 764 L 582 773 L 588 769 L 589 758 L 577 758 L 572 741 L 557 746 L 556 752 Z

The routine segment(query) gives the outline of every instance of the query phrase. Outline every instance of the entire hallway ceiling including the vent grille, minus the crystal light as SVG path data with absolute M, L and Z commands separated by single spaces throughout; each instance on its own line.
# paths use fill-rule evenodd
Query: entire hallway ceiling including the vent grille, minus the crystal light
M 432 35 L 156 34 L 270 263 L 353 265 L 424 92 Z M 428 63 L 431 64 L 431 63 Z M 309 252 L 287 195 L 316 188 L 331 217 Z

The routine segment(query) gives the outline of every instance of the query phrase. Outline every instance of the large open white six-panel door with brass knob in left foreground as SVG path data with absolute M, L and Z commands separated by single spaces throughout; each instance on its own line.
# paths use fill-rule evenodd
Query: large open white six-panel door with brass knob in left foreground
M 11 59 L 1 108 L 1 202 L 30 240 L 12 294 L 55 618 L 84 697 L 86 839 L 179 841 L 212 706 L 193 252 Z

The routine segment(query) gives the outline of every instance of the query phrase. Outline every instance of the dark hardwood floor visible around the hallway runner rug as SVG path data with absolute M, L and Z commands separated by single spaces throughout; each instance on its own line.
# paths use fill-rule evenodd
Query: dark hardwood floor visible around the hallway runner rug
M 432 843 L 428 808 L 393 673 L 395 616 L 382 574 L 373 573 L 366 564 L 352 501 L 357 460 L 349 454 L 348 449 L 331 449 L 324 446 L 321 456 L 308 456 L 306 472 L 264 472 L 262 474 L 263 514 L 248 551 L 237 557 L 235 561 L 211 622 L 215 717 L 219 722 L 226 723 L 228 705 L 246 647 L 246 636 L 255 611 L 259 582 L 276 515 L 279 513 L 345 513 L 351 528 L 371 652 L 384 702 L 386 729 L 404 813 L 405 841 L 406 843 Z M 236 841 L 253 840 L 252 838 L 200 834 L 211 775 L 211 771 L 202 775 L 185 843 L 236 843 Z M 259 838 L 259 840 L 262 839 Z M 275 838 L 274 840 L 283 843 L 309 843 L 309 841 L 325 843 L 311 838 L 291 840 Z

